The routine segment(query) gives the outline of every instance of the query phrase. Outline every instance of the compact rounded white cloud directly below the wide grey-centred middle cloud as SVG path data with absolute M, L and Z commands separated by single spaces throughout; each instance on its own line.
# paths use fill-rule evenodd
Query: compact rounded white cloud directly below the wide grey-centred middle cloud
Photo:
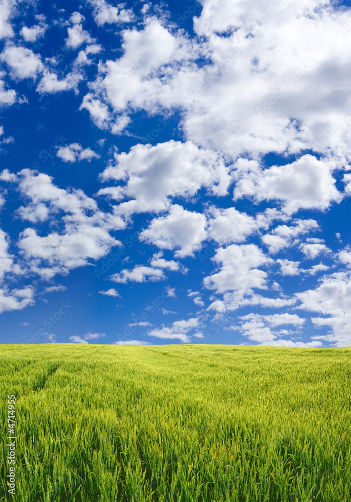
M 194 256 L 206 239 L 206 218 L 201 213 L 187 211 L 174 204 L 167 216 L 154 218 L 139 239 L 161 249 L 176 249 L 176 257 Z

